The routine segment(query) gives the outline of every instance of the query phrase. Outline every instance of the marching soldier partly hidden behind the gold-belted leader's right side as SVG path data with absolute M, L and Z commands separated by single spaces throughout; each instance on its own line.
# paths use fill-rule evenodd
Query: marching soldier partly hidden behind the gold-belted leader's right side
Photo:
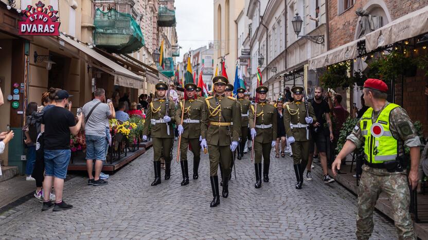
M 241 143 L 239 145 L 238 159 L 244 156 L 244 147 L 247 144 L 248 137 L 248 109 L 251 106 L 251 101 L 244 98 L 245 89 L 238 88 L 238 109 L 241 111 Z

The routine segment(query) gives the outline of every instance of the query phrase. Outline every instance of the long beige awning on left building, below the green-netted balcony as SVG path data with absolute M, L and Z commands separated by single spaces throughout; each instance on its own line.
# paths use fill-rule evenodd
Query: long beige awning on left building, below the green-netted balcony
M 114 76 L 115 85 L 119 85 L 119 86 L 127 87 L 127 88 L 136 88 L 136 89 L 142 89 L 143 88 L 142 81 L 144 80 L 144 78 L 142 76 L 139 76 L 139 75 L 131 72 L 130 70 L 114 63 L 109 58 L 99 54 L 98 52 L 89 48 L 88 46 L 81 44 L 81 43 L 78 43 L 78 42 L 74 41 L 71 38 L 68 38 L 67 36 L 65 36 L 63 34 L 60 35 L 60 38 L 62 40 L 64 40 L 65 42 L 67 42 L 68 44 L 73 45 L 74 47 L 76 47 L 80 51 L 84 52 L 88 56 L 92 57 L 97 62 L 99 62 L 99 63 L 105 65 L 106 67 L 108 67 L 109 69 L 111 69 L 111 72 L 109 72 L 109 73 Z

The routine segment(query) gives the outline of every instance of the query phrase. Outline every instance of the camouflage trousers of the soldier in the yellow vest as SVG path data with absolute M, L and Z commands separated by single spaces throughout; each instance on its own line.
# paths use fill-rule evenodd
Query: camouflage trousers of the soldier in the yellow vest
M 412 218 L 409 213 L 410 192 L 407 175 L 390 173 L 386 169 L 363 165 L 358 189 L 358 214 L 356 237 L 369 239 L 373 232 L 373 210 L 381 192 L 385 192 L 394 211 L 394 224 L 399 239 L 416 239 Z

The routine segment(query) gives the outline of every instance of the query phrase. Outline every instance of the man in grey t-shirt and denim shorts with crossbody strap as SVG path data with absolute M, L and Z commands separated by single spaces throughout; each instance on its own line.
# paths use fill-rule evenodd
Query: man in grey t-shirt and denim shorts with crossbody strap
M 105 161 L 106 122 L 115 117 L 113 104 L 105 104 L 105 91 L 102 88 L 95 90 L 95 98 L 82 108 L 86 138 L 86 168 L 88 185 L 105 185 L 107 181 L 100 179 L 100 172 Z M 92 111 L 92 113 L 91 113 Z M 91 113 L 91 114 L 90 114 Z M 95 177 L 92 175 L 92 164 L 95 160 Z

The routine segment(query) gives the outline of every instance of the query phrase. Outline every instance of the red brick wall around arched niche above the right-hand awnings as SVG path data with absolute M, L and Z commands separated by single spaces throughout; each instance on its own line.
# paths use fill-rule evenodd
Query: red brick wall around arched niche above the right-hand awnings
M 358 16 L 355 10 L 364 7 L 369 0 L 355 0 L 355 4 L 342 14 L 337 14 L 337 2 L 342 0 L 329 1 L 329 31 L 330 31 L 330 49 L 337 48 L 354 40 L 355 27 Z M 382 1 L 382 0 L 380 0 Z M 413 12 L 428 5 L 428 0 L 393 0 L 384 1 L 391 15 L 391 21 L 396 18 Z

